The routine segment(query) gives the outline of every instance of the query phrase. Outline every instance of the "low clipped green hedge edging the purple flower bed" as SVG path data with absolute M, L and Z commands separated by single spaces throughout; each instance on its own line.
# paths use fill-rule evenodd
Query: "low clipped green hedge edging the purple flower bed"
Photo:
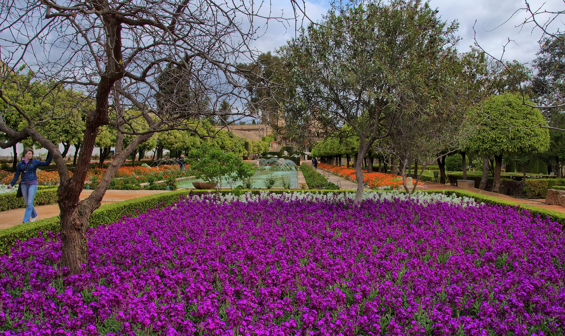
M 288 192 L 285 189 L 272 189 L 272 190 L 249 190 L 242 192 L 251 192 L 257 194 L 259 192 L 272 192 L 272 193 L 282 193 Z M 354 190 L 318 190 L 318 189 L 308 189 L 308 190 L 293 190 L 292 192 L 314 192 L 314 193 L 344 193 L 344 192 L 355 192 Z M 387 192 L 387 191 L 380 191 Z M 496 197 L 483 196 L 469 191 L 459 191 L 459 190 L 431 190 L 423 191 L 427 193 L 445 193 L 445 195 L 456 195 L 459 197 L 469 197 L 475 199 L 476 201 L 501 205 L 501 206 L 518 206 L 520 209 L 528 210 L 529 213 L 534 215 L 539 214 L 542 217 L 549 217 L 551 220 L 560 223 L 565 226 L 565 213 L 560 213 L 554 210 L 548 210 L 543 208 L 537 208 L 536 206 L 524 205 L 518 202 L 506 201 L 497 199 Z M 105 225 L 107 223 L 113 223 L 119 221 L 123 216 L 137 216 L 138 213 L 145 213 L 149 209 L 159 208 L 159 206 L 169 206 L 173 202 L 180 200 L 181 196 L 189 195 L 190 193 L 210 193 L 206 190 L 177 190 L 159 193 L 157 195 L 149 195 L 144 197 L 139 197 L 137 199 L 121 201 L 118 203 L 105 204 L 100 206 L 100 208 L 94 210 L 90 216 L 90 227 L 98 227 L 100 225 Z M 232 193 L 230 190 L 222 190 L 221 194 Z M 139 210 L 139 211 L 138 211 Z M 39 232 L 48 231 L 59 231 L 59 217 L 51 217 L 46 219 L 41 219 L 35 222 L 24 223 L 16 225 L 14 227 L 9 227 L 8 229 L 0 230 L 0 253 L 5 254 L 10 252 L 10 248 L 18 240 L 27 240 L 34 238 Z

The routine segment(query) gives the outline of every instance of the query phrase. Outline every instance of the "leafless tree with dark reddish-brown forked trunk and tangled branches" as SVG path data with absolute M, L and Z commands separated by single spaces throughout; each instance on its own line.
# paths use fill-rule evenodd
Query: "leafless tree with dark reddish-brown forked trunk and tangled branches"
M 235 107 L 220 112 L 215 106 L 222 100 L 245 106 L 246 73 L 237 64 L 256 57 L 250 46 L 258 36 L 254 20 L 284 20 L 262 5 L 212 0 L 14 0 L 0 7 L 0 48 L 6 67 L 0 72 L 0 102 L 5 105 L 3 113 L 18 114 L 24 125 L 16 129 L 0 119 L 0 132 L 8 139 L 1 147 L 31 137 L 54 154 L 60 178 L 62 264 L 71 274 L 88 260 L 85 233 L 90 214 L 138 145 L 159 131 L 190 130 L 210 136 L 199 132 L 200 118 L 252 113 Z M 24 64 L 30 70 L 27 75 L 16 70 Z M 75 107 L 63 114 L 40 100 L 40 113 L 32 118 L 19 98 L 50 97 L 62 90 L 75 93 L 69 100 Z M 241 104 L 235 104 L 238 100 Z M 86 128 L 71 177 L 58 144 L 38 126 L 77 109 L 86 114 Z M 144 122 L 134 122 L 137 119 Z M 94 141 L 105 125 L 133 137 L 118 149 L 99 187 L 80 201 Z

